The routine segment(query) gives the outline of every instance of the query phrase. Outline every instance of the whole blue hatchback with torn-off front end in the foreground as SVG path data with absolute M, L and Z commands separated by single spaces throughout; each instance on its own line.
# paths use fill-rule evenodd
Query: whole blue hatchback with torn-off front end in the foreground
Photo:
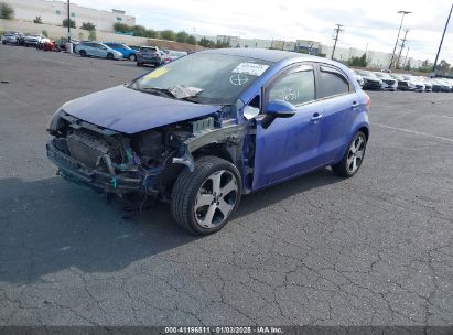
M 241 195 L 365 158 L 370 99 L 315 56 L 211 50 L 63 105 L 47 156 L 60 175 L 121 197 L 171 203 L 195 235 L 219 230 Z

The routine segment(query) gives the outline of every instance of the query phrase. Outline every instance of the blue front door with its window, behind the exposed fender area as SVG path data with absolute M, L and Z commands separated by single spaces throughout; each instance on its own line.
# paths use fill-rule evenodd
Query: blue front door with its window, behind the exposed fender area
M 255 172 L 252 188 L 283 181 L 320 165 L 320 116 L 323 105 L 316 101 L 315 72 L 312 64 L 298 65 L 272 79 L 263 90 L 262 106 L 280 99 L 295 106 L 291 118 L 277 118 L 265 129 L 256 118 Z

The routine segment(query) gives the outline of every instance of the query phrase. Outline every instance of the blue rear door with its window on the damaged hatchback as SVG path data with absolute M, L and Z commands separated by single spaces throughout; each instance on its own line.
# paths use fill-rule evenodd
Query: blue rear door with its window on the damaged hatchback
M 327 64 L 320 64 L 317 71 L 319 98 L 324 106 L 320 120 L 320 160 L 326 165 L 343 156 L 345 147 L 352 140 L 350 127 L 360 104 L 354 85 L 343 71 Z

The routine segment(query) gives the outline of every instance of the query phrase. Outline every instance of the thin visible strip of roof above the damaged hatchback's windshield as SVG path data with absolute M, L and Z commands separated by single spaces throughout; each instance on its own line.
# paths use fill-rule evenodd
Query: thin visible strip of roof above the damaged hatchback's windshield
M 242 56 L 249 58 L 257 58 L 267 62 L 280 62 L 288 58 L 300 58 L 304 57 L 308 60 L 323 60 L 326 63 L 330 63 L 330 60 L 320 58 L 316 56 L 311 56 L 306 54 L 289 52 L 289 51 L 281 51 L 281 50 L 268 50 L 268 48 L 215 48 L 215 50 L 206 50 L 203 53 L 215 53 L 215 54 L 224 54 L 224 55 L 234 55 L 234 56 Z

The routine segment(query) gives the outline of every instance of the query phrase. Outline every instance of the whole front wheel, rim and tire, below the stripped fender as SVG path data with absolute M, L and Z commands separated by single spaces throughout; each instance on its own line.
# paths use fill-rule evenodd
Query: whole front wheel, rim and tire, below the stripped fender
M 237 209 L 241 195 L 239 171 L 217 156 L 195 162 L 194 172 L 181 172 L 172 191 L 172 214 L 180 226 L 194 235 L 222 229 Z

